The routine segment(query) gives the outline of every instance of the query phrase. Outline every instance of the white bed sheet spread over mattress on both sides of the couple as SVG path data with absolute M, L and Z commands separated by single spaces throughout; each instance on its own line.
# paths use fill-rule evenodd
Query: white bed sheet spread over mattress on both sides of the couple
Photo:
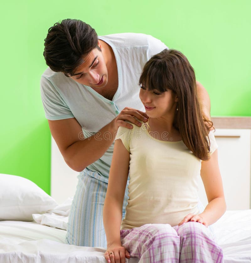
M 225 263 L 251 262 L 251 210 L 227 211 L 213 227 Z M 105 263 L 104 248 L 64 244 L 66 231 L 34 222 L 0 221 L 0 262 Z M 131 258 L 129 263 L 136 263 Z

